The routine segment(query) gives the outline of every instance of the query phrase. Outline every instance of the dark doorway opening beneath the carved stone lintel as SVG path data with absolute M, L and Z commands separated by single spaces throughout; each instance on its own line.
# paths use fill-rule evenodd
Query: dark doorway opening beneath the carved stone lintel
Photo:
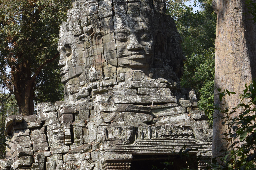
M 153 168 L 153 169 L 152 169 Z M 133 155 L 130 170 L 197 169 L 197 161 L 179 155 Z

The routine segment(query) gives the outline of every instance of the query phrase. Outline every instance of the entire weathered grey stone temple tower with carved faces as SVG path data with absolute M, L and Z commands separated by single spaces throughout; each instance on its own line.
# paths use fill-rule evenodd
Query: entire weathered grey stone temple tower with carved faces
M 2 169 L 206 167 L 212 129 L 180 87 L 181 38 L 165 10 L 162 0 L 74 1 L 58 46 L 65 101 L 7 118 Z

